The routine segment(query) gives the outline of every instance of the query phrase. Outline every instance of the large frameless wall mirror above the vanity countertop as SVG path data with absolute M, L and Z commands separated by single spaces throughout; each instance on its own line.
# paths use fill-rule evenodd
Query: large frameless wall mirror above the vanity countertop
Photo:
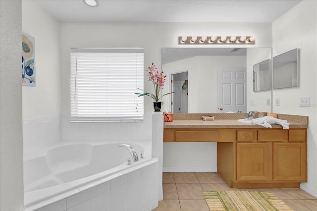
M 166 81 L 170 81 L 174 74 L 188 73 L 186 90 L 188 113 L 217 113 L 220 112 L 218 70 L 244 68 L 247 78 L 245 99 L 254 99 L 256 106 L 254 109 L 270 112 L 271 107 L 267 106 L 266 102 L 267 99 L 271 99 L 271 91 L 254 93 L 251 82 L 253 65 L 269 58 L 271 58 L 271 48 L 162 48 L 162 71 L 167 75 Z M 164 92 L 171 90 L 171 84 L 165 83 Z M 259 100 L 256 95 L 259 95 Z M 172 95 L 164 98 L 163 101 L 164 105 L 169 105 L 166 107 L 171 111 Z M 245 105 L 249 106 L 246 101 Z

